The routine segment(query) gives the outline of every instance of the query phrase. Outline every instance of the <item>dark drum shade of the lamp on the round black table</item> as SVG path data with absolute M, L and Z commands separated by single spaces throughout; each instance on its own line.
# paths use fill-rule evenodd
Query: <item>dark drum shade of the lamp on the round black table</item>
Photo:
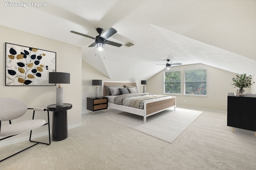
M 49 83 L 70 84 L 70 73 L 49 72 Z

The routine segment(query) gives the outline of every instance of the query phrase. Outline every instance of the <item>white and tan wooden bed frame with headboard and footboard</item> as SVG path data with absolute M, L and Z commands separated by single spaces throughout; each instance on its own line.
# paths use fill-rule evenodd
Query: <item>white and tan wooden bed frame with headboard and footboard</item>
M 136 82 L 103 82 L 102 85 L 102 94 L 103 96 L 106 96 L 105 86 L 117 86 L 117 85 L 124 85 L 127 86 L 137 86 Z M 128 107 L 128 106 L 122 106 L 119 104 L 113 104 L 108 102 L 108 107 L 112 109 L 117 109 L 120 111 L 125 111 L 128 113 L 132 113 L 135 115 L 140 115 L 144 117 L 144 123 L 146 123 L 146 119 L 148 116 L 154 115 L 156 113 L 159 113 L 160 111 L 164 111 L 166 109 L 169 109 L 171 107 L 174 107 L 174 110 L 176 109 L 176 97 L 170 96 L 170 98 L 164 98 L 164 99 L 158 99 L 154 101 L 149 101 L 144 103 L 144 109 L 137 109 L 134 107 Z

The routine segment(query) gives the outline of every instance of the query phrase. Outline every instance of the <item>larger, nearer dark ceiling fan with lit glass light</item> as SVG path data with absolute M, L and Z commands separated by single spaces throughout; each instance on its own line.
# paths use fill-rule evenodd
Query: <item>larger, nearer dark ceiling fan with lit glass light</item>
M 76 31 L 70 31 L 71 33 L 75 33 L 75 34 L 78 34 L 78 35 L 82 35 L 84 37 L 87 37 L 87 38 L 91 38 L 91 39 L 95 39 L 95 42 L 92 43 L 91 45 L 89 45 L 88 47 L 94 47 L 97 45 L 97 49 L 98 51 L 103 51 L 104 50 L 104 44 L 108 44 L 108 45 L 113 45 L 113 46 L 116 46 L 116 47 L 121 47 L 122 44 L 119 44 L 119 43 L 115 43 L 113 41 L 108 41 L 107 39 L 109 37 L 111 37 L 112 35 L 114 35 L 115 33 L 117 33 L 116 29 L 114 28 L 111 28 L 108 29 L 107 31 L 104 31 L 104 29 L 102 28 L 96 28 L 96 31 L 99 33 L 98 36 L 96 36 L 95 38 L 94 37 L 91 37 L 89 35 L 85 35 L 85 34 L 82 34 L 82 33 L 78 33 Z M 102 34 L 103 33 L 103 34 Z

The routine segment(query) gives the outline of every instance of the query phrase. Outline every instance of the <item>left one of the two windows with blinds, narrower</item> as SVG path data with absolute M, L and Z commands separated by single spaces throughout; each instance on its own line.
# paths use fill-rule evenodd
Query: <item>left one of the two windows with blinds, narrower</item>
M 164 72 L 164 93 L 180 94 L 180 71 Z

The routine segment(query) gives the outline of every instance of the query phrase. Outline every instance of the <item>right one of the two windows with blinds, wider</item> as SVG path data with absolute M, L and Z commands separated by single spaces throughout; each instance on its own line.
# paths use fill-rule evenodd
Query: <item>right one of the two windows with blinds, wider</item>
M 206 68 L 184 70 L 185 94 L 206 96 Z

